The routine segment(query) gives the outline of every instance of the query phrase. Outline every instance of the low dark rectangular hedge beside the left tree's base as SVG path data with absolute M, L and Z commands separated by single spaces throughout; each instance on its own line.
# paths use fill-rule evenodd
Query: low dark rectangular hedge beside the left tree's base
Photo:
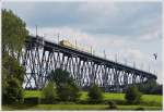
M 30 97 L 30 98 L 24 98 L 24 104 L 39 104 L 40 99 L 38 97 Z

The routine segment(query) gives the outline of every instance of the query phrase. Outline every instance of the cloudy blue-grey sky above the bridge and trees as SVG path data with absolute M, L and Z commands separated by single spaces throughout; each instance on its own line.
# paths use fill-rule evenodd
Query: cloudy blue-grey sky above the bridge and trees
M 4 2 L 30 30 L 149 71 L 162 83 L 162 2 Z M 157 53 L 155 60 L 153 53 Z

